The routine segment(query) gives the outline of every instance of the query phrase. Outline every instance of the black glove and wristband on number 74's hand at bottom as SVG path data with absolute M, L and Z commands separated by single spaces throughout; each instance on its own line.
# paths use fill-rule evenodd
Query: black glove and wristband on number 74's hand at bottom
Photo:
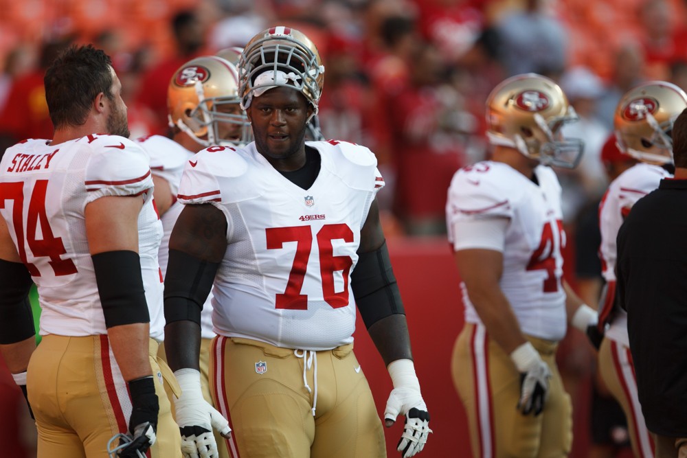
M 129 418 L 129 434 L 126 439 L 120 438 L 120 446 L 117 456 L 137 458 L 144 455 L 148 448 L 155 444 L 157 432 L 157 415 L 159 402 L 155 394 L 155 382 L 153 376 L 137 378 L 128 382 L 131 394 L 131 418 Z

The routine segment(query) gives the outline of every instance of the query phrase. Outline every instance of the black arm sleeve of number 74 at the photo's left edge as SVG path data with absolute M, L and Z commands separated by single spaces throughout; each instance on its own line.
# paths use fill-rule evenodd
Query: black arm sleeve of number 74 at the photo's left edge
M 25 341 L 36 334 L 29 303 L 32 284 L 24 264 L 0 260 L 0 344 Z

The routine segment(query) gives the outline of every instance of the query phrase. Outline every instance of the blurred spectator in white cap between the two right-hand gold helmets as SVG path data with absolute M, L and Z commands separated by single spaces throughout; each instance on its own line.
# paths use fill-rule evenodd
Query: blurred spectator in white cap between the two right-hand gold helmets
M 601 78 L 586 67 L 574 67 L 563 74 L 561 88 L 580 118 L 563 126 L 565 137 L 585 141 L 585 152 L 578 166 L 561 170 L 559 178 L 563 187 L 563 216 L 571 221 L 581 207 L 596 201 L 606 190 L 608 181 L 601 166 L 601 148 L 609 130 L 596 117 L 596 100 L 604 87 Z

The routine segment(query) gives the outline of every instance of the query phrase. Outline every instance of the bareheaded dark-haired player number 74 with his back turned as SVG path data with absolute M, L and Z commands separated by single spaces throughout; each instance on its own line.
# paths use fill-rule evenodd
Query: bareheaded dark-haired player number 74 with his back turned
M 45 73 L 53 139 L 21 141 L 0 162 L 0 350 L 25 385 L 40 458 L 105 457 L 118 435 L 122 457 L 180 455 L 163 388 L 173 376 L 156 358 L 162 225 L 121 89 L 103 51 L 67 49 Z

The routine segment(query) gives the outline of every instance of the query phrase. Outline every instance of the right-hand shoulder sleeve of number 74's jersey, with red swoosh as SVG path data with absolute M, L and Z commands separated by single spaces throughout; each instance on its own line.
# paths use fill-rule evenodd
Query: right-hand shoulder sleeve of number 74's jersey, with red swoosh
M 89 137 L 82 139 L 91 144 L 85 170 L 86 203 L 104 196 L 136 196 L 153 188 L 148 155 L 135 142 L 115 135 Z

